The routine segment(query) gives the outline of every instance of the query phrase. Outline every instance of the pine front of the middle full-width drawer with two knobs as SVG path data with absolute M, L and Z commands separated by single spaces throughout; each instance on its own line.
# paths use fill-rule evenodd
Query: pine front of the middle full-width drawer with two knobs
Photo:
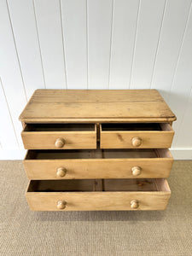
M 161 153 L 162 157 L 145 159 L 26 159 L 24 166 L 29 179 L 168 177 L 172 169 L 172 154 L 168 149 L 156 151 Z

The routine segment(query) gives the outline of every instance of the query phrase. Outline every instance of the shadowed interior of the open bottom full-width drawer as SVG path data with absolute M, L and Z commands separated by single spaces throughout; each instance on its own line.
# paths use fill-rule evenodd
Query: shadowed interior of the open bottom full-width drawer
M 32 180 L 27 192 L 170 191 L 164 178 Z

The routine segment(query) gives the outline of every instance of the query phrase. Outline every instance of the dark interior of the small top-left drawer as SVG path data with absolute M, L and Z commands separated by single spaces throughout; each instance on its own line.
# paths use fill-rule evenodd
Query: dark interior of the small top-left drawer
M 24 131 L 95 131 L 95 124 L 26 124 Z

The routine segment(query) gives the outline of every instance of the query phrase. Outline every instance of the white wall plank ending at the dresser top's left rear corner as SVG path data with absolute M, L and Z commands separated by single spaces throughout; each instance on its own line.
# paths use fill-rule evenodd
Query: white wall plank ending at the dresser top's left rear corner
M 29 99 L 37 88 L 44 88 L 44 73 L 38 44 L 32 0 L 8 0 L 9 13 Z

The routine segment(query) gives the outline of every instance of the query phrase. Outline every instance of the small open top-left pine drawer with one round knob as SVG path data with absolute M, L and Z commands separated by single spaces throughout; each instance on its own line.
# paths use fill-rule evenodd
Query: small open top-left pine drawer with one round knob
M 26 124 L 21 137 L 26 149 L 96 148 L 96 125 Z

